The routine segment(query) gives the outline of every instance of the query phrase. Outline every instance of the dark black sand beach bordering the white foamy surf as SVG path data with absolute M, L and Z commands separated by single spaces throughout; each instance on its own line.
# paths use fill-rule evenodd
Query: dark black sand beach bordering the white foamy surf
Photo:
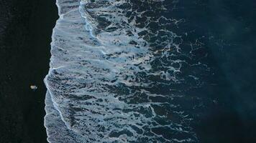
M 57 6 L 52 0 L 4 0 L 0 14 L 0 142 L 47 142 L 43 79 Z

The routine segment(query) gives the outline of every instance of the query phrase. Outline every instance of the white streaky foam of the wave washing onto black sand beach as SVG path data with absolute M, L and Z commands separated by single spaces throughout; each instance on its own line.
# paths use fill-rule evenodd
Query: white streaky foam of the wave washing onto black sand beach
M 177 1 L 58 0 L 45 77 L 48 142 L 198 142 L 187 90 L 209 69 Z M 176 32 L 174 32 L 176 31 Z M 191 84 L 192 83 L 192 84 Z

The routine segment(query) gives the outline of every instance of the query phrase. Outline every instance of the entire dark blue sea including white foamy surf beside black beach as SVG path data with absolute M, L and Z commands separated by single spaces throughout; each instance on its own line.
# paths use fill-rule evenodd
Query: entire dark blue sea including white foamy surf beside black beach
M 255 1 L 57 5 L 48 142 L 253 142 Z

